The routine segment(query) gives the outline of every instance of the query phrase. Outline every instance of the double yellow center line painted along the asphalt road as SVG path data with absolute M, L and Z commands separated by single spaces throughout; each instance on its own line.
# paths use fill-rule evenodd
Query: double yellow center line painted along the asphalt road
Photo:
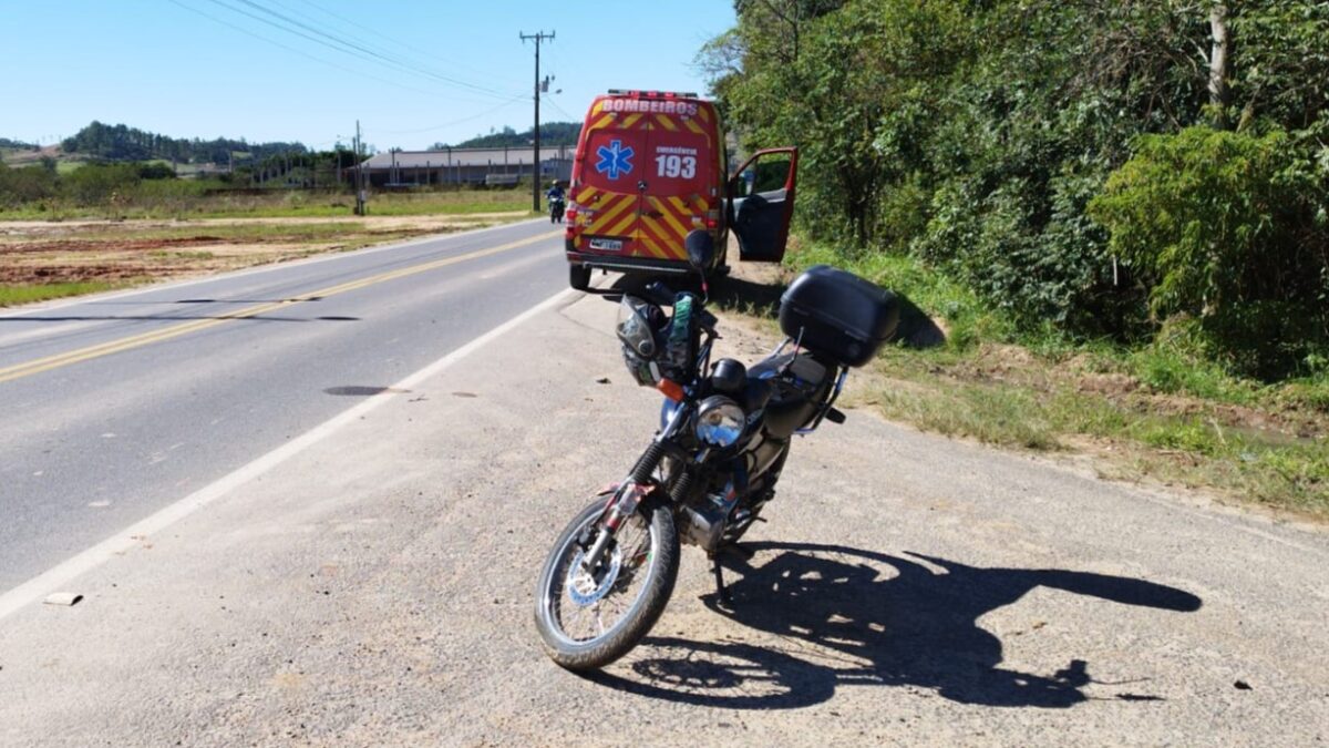
M 336 286 L 330 286 L 322 290 L 310 291 L 307 294 L 288 298 L 283 301 L 275 301 L 271 303 L 262 303 L 258 306 L 250 306 L 247 309 L 241 309 L 238 311 L 231 311 L 227 314 L 221 314 L 211 319 L 198 319 L 194 322 L 185 322 L 182 325 L 175 325 L 165 330 L 154 330 L 152 333 L 141 333 L 138 335 L 130 335 L 128 338 L 121 338 L 118 341 L 109 341 L 105 343 L 97 343 L 94 346 L 81 347 L 77 350 L 60 353 L 56 355 L 48 355 L 45 358 L 39 358 L 35 361 L 28 361 L 24 363 L 16 363 L 13 366 L 7 366 L 0 369 L 0 382 L 8 382 L 11 379 L 19 379 L 21 377 L 31 377 L 33 374 L 40 374 L 43 371 L 49 371 L 52 369 L 58 369 L 61 366 L 69 366 L 70 363 L 80 363 L 82 361 L 89 361 L 93 358 L 101 358 L 104 355 L 110 355 L 113 353 L 121 353 L 126 350 L 133 350 L 146 345 L 157 343 L 161 341 L 169 341 L 171 338 L 178 338 L 181 335 L 187 335 L 190 333 L 197 333 L 199 330 L 206 330 L 209 327 L 215 327 L 223 325 L 233 319 L 246 319 L 250 317 L 258 317 L 259 314 L 266 314 L 276 309 L 283 309 L 296 303 L 303 303 L 307 301 L 315 301 L 320 298 L 327 298 L 330 295 L 336 295 L 347 291 L 354 291 L 356 289 L 363 289 L 365 286 L 372 286 L 376 283 L 383 283 L 387 281 L 395 281 L 397 278 L 405 278 L 407 276 L 415 276 L 417 273 L 425 273 L 428 270 L 436 270 L 439 268 L 445 268 L 448 265 L 455 265 L 457 262 L 465 262 L 468 260 L 477 260 L 480 257 L 488 257 L 490 254 L 498 254 L 500 252 L 508 252 L 510 249 L 517 249 L 520 246 L 526 246 L 536 244 L 538 241 L 545 241 L 548 238 L 560 236 L 561 232 L 549 232 L 540 236 L 518 240 L 514 242 L 492 246 L 489 249 L 481 249 L 477 252 L 470 252 L 466 254 L 459 254 L 456 257 L 447 257 L 444 260 L 435 260 L 432 262 L 423 262 L 420 265 L 412 265 L 409 268 L 401 268 L 399 270 L 389 270 L 387 273 L 380 273 L 377 276 L 369 276 L 368 278 L 360 278 L 358 281 L 350 281 Z

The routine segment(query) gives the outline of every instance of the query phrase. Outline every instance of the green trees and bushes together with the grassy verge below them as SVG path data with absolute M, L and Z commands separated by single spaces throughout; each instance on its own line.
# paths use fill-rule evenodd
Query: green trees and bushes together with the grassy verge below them
M 1329 516 L 1329 5 L 735 7 L 698 61 L 800 146 L 787 264 L 906 298 L 860 399 Z

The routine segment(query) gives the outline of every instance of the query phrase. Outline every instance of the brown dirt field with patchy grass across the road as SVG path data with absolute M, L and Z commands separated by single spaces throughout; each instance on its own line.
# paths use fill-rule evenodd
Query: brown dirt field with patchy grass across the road
M 141 283 L 477 229 L 526 213 L 0 222 L 0 285 Z

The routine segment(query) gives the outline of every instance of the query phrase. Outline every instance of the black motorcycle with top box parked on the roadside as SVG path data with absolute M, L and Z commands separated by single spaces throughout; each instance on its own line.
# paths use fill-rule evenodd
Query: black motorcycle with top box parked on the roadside
M 647 286 L 623 294 L 617 334 L 629 371 L 664 395 L 661 426 L 622 482 L 577 514 L 554 542 L 536 590 L 536 627 L 563 668 L 601 668 L 627 654 L 668 603 L 680 544 L 712 560 L 718 596 L 728 603 L 719 558 L 762 520 L 792 438 L 824 421 L 852 367 L 870 361 L 894 333 L 896 297 L 844 270 L 816 266 L 781 297 L 787 335 L 752 367 L 722 358 L 706 310 L 711 234 L 686 238 L 702 273 L 702 297 Z M 671 306 L 666 314 L 663 306 Z

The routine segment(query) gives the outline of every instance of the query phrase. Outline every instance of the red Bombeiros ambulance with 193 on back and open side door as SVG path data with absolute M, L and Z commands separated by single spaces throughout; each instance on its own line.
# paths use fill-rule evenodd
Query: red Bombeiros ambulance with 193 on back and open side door
M 586 113 L 565 220 L 569 281 L 591 270 L 688 273 L 683 238 L 711 232 L 724 272 L 728 232 L 744 261 L 779 262 L 789 236 L 796 148 L 760 150 L 727 173 L 719 114 L 695 93 L 610 91 Z

